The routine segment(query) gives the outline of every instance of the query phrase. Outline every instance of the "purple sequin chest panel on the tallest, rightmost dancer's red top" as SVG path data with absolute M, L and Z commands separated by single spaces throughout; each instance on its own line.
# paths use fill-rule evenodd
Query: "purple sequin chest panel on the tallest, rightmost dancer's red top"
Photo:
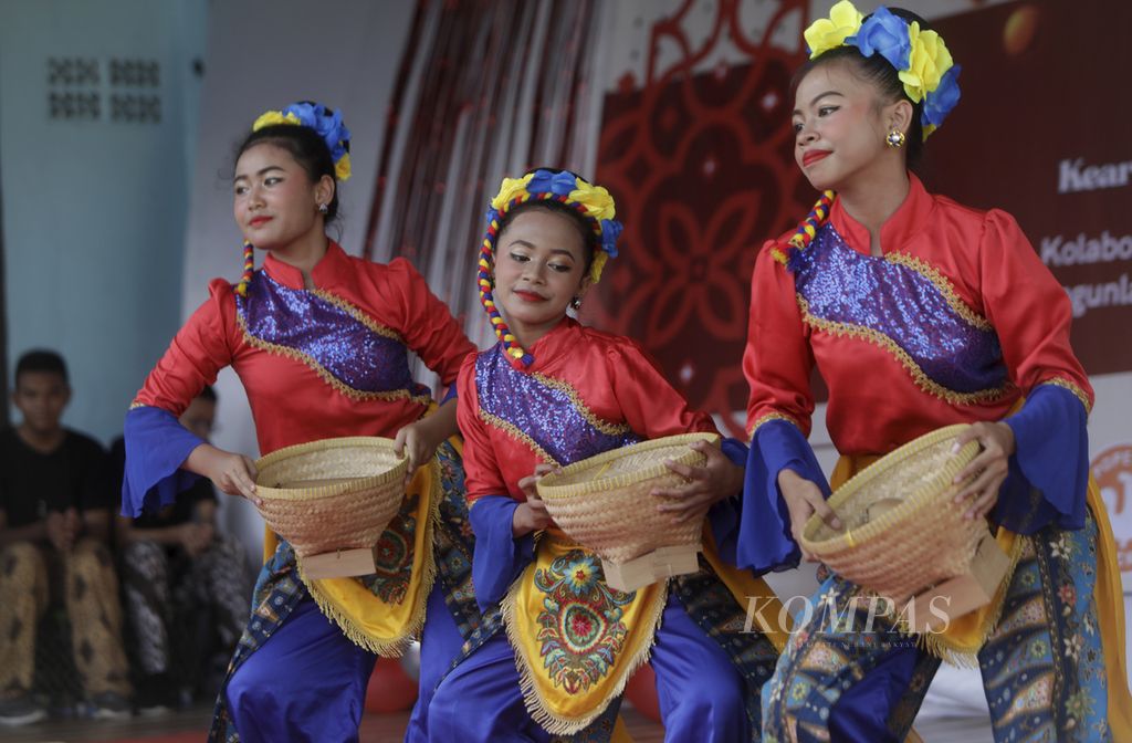
M 811 315 L 883 333 L 936 384 L 975 393 L 1006 383 L 993 330 L 971 325 L 914 268 L 854 250 L 829 222 L 788 265 Z

